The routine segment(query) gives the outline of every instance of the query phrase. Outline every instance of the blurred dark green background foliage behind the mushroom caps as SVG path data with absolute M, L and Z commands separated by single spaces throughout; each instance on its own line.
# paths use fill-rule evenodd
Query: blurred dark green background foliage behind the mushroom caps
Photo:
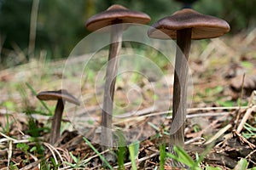
M 0 69 L 39 58 L 43 52 L 46 59 L 67 58 L 90 33 L 85 21 L 114 3 L 148 14 L 149 25 L 183 7 L 174 0 L 0 0 Z M 255 7 L 256 0 L 198 0 L 193 4 L 202 14 L 227 20 L 230 36 L 256 26 Z

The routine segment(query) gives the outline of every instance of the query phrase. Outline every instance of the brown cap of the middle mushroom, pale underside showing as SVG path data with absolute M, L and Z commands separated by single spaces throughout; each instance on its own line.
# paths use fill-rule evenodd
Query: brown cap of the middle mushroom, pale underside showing
M 100 14 L 93 15 L 86 21 L 85 27 L 89 31 L 96 31 L 105 26 L 111 26 L 113 24 L 120 23 L 137 23 L 147 24 L 150 21 L 148 14 L 144 14 L 137 11 L 132 11 L 121 5 L 114 4 L 106 11 Z

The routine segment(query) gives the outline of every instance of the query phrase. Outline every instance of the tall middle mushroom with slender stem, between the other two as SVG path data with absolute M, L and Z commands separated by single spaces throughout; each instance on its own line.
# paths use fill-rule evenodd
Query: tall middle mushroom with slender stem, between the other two
M 114 4 L 106 11 L 92 16 L 87 20 L 85 26 L 89 31 L 96 31 L 105 26 L 111 26 L 109 46 L 108 67 L 106 73 L 106 83 L 104 87 L 104 98 L 102 108 L 102 150 L 113 147 L 112 139 L 112 115 L 113 115 L 113 94 L 115 79 L 118 72 L 119 53 L 122 45 L 122 33 L 127 26 L 122 23 L 146 24 L 150 21 L 148 14 L 131 11 L 121 5 Z

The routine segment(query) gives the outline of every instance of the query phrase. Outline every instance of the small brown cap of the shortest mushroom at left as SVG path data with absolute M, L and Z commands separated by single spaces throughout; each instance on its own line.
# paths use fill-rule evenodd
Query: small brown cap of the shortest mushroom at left
M 58 90 L 58 91 L 44 91 L 40 92 L 37 95 L 37 98 L 40 100 L 58 100 L 63 99 L 69 103 L 73 103 L 74 105 L 80 105 L 78 99 L 73 97 L 72 94 L 67 93 L 67 90 Z

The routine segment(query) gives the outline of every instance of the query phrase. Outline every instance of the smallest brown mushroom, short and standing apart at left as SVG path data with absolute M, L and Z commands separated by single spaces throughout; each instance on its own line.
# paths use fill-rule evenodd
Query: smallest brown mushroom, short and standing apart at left
M 78 99 L 73 97 L 72 94 L 68 94 L 67 90 L 61 89 L 58 91 L 44 91 L 37 95 L 40 100 L 57 100 L 57 105 L 55 107 L 55 115 L 51 123 L 51 131 L 49 137 L 49 143 L 55 144 L 57 139 L 60 138 L 61 129 L 61 117 L 64 111 L 65 102 L 72 103 L 74 105 L 80 105 Z

